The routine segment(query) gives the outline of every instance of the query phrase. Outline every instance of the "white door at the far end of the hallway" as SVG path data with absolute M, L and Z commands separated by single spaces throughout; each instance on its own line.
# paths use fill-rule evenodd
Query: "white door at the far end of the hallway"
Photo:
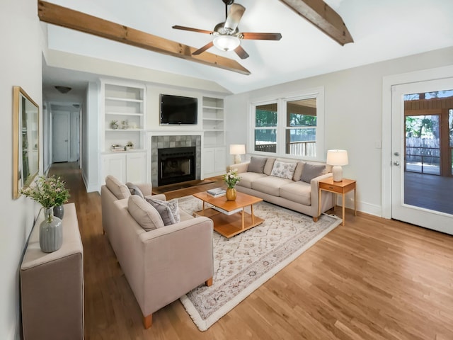
M 69 112 L 52 113 L 52 162 L 69 161 Z

